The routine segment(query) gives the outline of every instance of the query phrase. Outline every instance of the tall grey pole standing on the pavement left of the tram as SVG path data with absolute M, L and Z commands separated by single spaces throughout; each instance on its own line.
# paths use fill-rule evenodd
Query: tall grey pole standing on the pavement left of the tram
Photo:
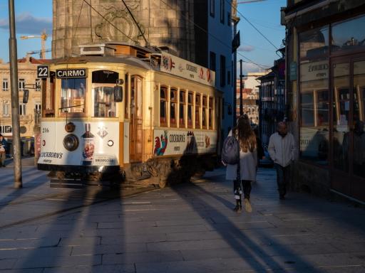
M 9 59 L 11 84 L 11 122 L 13 125 L 13 156 L 14 156 L 14 187 L 22 188 L 21 177 L 21 146 L 19 122 L 19 92 L 18 92 L 18 56 L 16 54 L 15 10 L 14 0 L 9 0 Z

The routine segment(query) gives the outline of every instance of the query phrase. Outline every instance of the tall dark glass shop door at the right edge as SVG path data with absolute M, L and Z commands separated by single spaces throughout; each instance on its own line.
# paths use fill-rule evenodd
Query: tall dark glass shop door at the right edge
M 332 188 L 365 200 L 365 58 L 332 61 Z

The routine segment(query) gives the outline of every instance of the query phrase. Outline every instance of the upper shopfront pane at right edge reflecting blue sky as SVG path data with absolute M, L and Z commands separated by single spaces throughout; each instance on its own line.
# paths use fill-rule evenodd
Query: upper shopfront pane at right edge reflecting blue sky
M 335 23 L 332 26 L 331 50 L 365 49 L 365 16 Z

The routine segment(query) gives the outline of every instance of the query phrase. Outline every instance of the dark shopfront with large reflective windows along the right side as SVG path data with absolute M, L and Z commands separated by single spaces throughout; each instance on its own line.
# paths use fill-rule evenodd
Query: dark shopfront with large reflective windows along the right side
M 364 1 L 287 1 L 294 187 L 365 202 Z

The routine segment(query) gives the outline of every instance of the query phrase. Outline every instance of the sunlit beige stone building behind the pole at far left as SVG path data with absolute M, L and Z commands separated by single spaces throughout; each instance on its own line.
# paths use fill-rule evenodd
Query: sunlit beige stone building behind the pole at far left
M 41 79 L 37 66 L 48 60 L 27 56 L 18 60 L 19 114 L 21 137 L 34 137 L 34 112 L 41 111 Z M 0 63 L 0 133 L 12 138 L 10 63 Z M 28 103 L 23 103 L 24 90 L 29 90 Z

